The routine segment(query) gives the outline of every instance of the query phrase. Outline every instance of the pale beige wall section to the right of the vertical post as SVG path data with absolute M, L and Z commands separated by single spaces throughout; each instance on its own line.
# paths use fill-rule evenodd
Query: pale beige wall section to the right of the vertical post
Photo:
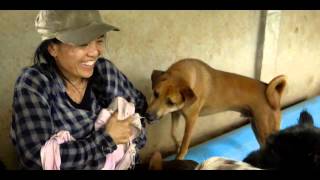
M 320 11 L 282 11 L 276 51 L 262 71 L 262 80 L 286 74 L 288 88 L 283 104 L 319 95 Z

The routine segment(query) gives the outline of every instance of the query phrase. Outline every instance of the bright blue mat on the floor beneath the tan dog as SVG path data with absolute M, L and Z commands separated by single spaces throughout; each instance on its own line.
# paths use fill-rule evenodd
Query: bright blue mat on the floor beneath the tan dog
M 282 110 L 281 129 L 295 125 L 298 122 L 300 112 L 307 110 L 314 119 L 315 126 L 320 126 L 320 96 L 303 101 L 294 106 Z M 211 139 L 189 149 L 185 159 L 198 163 L 213 156 L 226 157 L 234 160 L 243 160 L 251 151 L 259 148 L 251 125 L 245 125 L 222 136 Z M 175 155 L 166 160 L 172 160 Z

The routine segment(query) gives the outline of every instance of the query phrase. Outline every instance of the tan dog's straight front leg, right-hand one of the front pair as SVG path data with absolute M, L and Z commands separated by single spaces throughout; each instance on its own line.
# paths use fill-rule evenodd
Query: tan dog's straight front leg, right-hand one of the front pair
M 197 118 L 198 118 L 198 113 L 193 114 L 192 116 L 187 116 L 187 115 L 185 116 L 185 120 L 186 120 L 185 126 L 186 127 L 185 127 L 185 131 L 184 131 L 180 151 L 176 157 L 176 159 L 178 159 L 178 160 L 182 160 L 188 152 L 190 141 L 191 141 L 192 130 L 193 130 L 193 127 L 195 125 Z

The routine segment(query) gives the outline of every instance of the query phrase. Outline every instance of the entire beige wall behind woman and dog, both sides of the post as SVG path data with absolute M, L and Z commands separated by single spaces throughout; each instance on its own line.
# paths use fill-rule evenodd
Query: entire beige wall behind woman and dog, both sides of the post
M 15 79 L 26 65 L 40 41 L 34 31 L 37 11 L 0 11 L 0 159 L 9 168 L 16 158 L 8 138 Z M 101 11 L 103 18 L 121 29 L 107 35 L 105 56 L 110 58 L 149 99 L 150 75 L 153 69 L 165 70 L 175 61 L 193 57 L 209 65 L 247 77 L 255 77 L 260 11 Z M 282 17 L 283 16 L 283 17 Z M 305 94 L 316 94 L 316 51 L 319 46 L 319 11 L 281 13 L 274 63 L 264 63 L 261 80 L 278 74 L 289 75 L 289 87 L 283 104 L 294 102 Z M 307 19 L 307 20 L 306 20 Z M 297 27 L 297 28 L 296 28 Z M 296 30 L 298 29 L 298 30 Z M 306 40 L 308 38 L 308 40 Z M 272 44 L 272 43 L 271 43 Z M 293 58 L 294 57 L 294 58 Z M 266 62 L 267 57 L 263 60 Z M 276 70 L 274 70 L 276 69 Z M 302 69 L 302 71 L 301 71 Z M 299 73 L 297 73 L 297 71 Z M 301 74 L 303 72 L 303 74 Z M 308 89 L 304 83 L 308 81 Z M 197 144 L 224 128 L 244 121 L 235 112 L 224 112 L 200 118 L 192 144 Z M 170 138 L 170 118 L 148 126 L 148 141 L 142 150 L 146 159 L 155 150 L 174 150 Z M 178 135 L 181 138 L 184 121 Z

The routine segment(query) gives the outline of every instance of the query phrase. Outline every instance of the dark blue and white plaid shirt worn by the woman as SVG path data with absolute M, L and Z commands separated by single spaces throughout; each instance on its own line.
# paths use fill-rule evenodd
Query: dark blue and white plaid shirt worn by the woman
M 108 107 L 116 96 L 122 96 L 135 104 L 140 116 L 145 116 L 145 96 L 110 61 L 98 59 L 91 78 L 88 111 L 72 106 L 62 79 L 47 64 L 23 70 L 15 84 L 10 132 L 23 168 L 41 169 L 41 146 L 53 134 L 67 130 L 76 141 L 60 145 L 60 168 L 101 169 L 106 154 L 116 149 L 104 128 L 94 130 L 101 108 Z M 141 121 L 143 131 L 135 139 L 138 149 L 146 143 L 145 122 L 143 118 Z M 139 159 L 137 156 L 136 163 Z

